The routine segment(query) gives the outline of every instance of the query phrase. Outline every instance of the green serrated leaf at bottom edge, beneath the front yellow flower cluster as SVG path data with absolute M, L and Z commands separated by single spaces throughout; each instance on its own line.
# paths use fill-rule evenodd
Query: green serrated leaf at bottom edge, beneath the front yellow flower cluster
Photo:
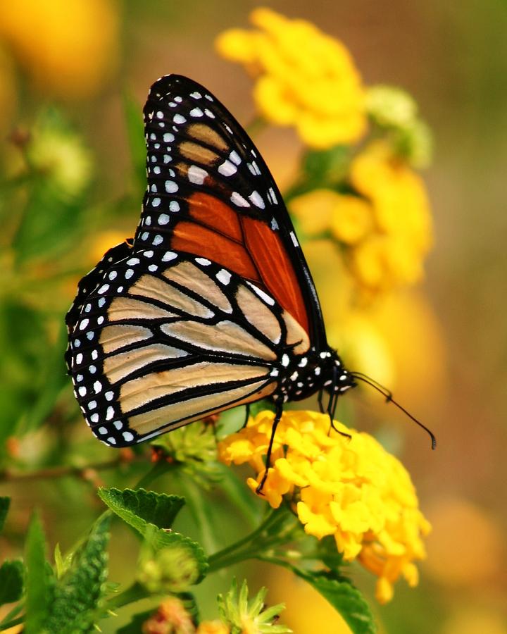
M 310 573 L 295 566 L 292 571 L 307 581 L 343 617 L 353 634 L 375 634 L 377 626 L 363 595 L 348 580 L 337 580 L 327 573 Z

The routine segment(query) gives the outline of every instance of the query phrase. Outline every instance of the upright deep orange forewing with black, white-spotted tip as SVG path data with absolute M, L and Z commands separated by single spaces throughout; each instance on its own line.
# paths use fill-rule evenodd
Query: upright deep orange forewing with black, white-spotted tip
M 320 304 L 294 227 L 261 155 L 201 85 L 168 75 L 144 107 L 148 189 L 135 249 L 202 256 L 275 298 L 327 349 Z

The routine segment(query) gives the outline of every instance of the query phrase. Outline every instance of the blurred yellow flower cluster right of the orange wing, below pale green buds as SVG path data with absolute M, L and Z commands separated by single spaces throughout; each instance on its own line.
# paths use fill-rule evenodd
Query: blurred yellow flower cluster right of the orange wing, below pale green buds
M 376 141 L 351 161 L 349 185 L 355 193 L 317 189 L 291 202 L 303 232 L 329 233 L 366 294 L 418 282 L 432 244 L 423 180 Z

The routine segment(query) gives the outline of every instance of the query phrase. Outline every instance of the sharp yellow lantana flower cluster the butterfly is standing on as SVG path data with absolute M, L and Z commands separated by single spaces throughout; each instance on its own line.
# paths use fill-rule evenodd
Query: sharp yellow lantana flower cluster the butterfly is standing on
M 219 444 L 225 464 L 248 463 L 256 471 L 248 480 L 253 491 L 265 472 L 273 418 L 263 411 Z M 325 414 L 284 412 L 263 496 L 273 508 L 288 498 L 309 535 L 333 535 L 344 559 L 358 559 L 378 576 L 376 596 L 384 603 L 399 576 L 417 584 L 413 561 L 425 558 L 430 524 L 403 465 L 370 435 L 335 425 L 351 438 L 330 431 Z

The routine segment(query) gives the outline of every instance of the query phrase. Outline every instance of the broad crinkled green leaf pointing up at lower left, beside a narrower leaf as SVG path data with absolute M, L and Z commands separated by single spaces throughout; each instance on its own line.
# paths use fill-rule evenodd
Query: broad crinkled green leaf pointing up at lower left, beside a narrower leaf
M 75 634 L 93 630 L 108 574 L 106 549 L 110 523 L 110 514 L 99 517 L 86 542 L 75 553 L 70 568 L 58 581 L 46 621 L 49 632 Z

